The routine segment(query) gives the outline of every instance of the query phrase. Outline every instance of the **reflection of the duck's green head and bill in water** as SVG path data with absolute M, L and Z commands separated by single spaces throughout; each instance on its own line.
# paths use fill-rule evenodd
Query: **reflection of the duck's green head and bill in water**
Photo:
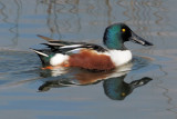
M 135 88 L 140 87 L 149 82 L 152 79 L 144 77 L 139 80 L 134 80 L 131 83 L 124 81 L 125 76 L 117 78 L 110 78 L 104 80 L 103 88 L 106 96 L 113 100 L 123 100 Z

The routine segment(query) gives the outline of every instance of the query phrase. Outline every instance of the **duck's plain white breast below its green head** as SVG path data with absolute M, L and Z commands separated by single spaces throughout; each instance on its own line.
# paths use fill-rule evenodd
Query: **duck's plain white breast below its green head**
M 132 52 L 129 50 L 110 50 L 108 56 L 115 66 L 122 66 L 132 60 Z

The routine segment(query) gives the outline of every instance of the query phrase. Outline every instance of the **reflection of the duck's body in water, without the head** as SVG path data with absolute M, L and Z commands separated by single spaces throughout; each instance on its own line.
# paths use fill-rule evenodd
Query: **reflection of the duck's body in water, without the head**
M 79 68 L 43 70 L 41 76 L 49 80 L 42 86 L 48 87 L 67 87 L 67 86 L 85 86 L 126 75 L 132 69 L 133 63 L 127 63 L 116 70 L 111 71 L 90 71 Z M 40 88 L 41 91 L 44 91 Z

